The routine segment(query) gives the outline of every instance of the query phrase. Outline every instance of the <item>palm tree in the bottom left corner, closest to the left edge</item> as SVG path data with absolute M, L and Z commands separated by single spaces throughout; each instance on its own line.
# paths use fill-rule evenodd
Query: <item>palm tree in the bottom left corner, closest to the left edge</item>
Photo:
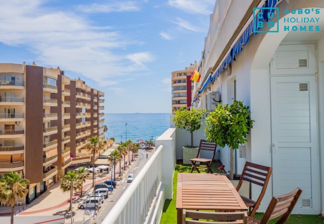
M 0 179 L 0 198 L 6 201 L 6 206 L 10 206 L 10 224 L 13 224 L 13 209 L 17 196 L 24 198 L 28 189 L 29 181 L 21 177 L 20 173 L 5 173 Z

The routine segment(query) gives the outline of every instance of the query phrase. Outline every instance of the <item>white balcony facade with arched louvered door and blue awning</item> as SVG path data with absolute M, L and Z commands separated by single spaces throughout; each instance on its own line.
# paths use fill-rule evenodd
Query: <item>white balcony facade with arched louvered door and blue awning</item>
M 279 20 L 260 30 L 274 31 L 279 24 L 279 32 L 253 33 L 253 8 L 265 6 L 278 7 Z M 322 15 L 324 2 L 218 0 L 202 50 L 202 82 L 195 84 L 192 106 L 213 110 L 208 98 L 213 92 L 223 104 L 239 100 L 250 106 L 255 122 L 248 141 L 236 150 L 235 167 L 238 174 L 245 161 L 273 167 L 261 212 L 272 196 L 299 187 L 303 193 L 294 213 L 324 213 L 324 21 L 287 23 L 305 16 L 291 9 L 307 8 Z M 307 17 L 319 15 L 314 10 Z M 320 32 L 310 31 L 310 25 Z M 227 147 L 221 149 L 221 161 L 228 170 Z M 255 200 L 260 188 L 252 185 L 251 194 Z

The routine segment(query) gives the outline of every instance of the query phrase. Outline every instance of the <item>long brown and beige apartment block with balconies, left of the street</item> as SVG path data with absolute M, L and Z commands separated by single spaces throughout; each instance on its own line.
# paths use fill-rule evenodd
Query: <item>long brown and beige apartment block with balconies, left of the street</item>
M 0 175 L 16 171 L 29 180 L 23 203 L 68 166 L 93 159 L 85 146 L 91 136 L 103 137 L 103 96 L 59 68 L 0 64 Z

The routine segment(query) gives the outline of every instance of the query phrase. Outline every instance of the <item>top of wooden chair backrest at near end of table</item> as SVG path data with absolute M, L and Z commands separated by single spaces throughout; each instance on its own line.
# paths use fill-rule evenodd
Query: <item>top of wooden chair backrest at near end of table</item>
M 187 220 L 186 218 L 191 218 L 192 220 Z M 227 221 L 226 224 L 247 224 L 247 214 L 246 212 L 216 213 L 183 210 L 182 220 L 182 224 L 224 224 L 224 221 Z M 213 222 L 199 220 L 213 220 Z

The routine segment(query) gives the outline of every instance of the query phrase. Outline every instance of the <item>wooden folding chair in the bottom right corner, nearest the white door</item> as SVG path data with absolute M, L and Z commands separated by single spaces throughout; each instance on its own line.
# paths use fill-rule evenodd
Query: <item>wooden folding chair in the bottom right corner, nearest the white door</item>
M 276 222 L 276 224 L 284 224 L 288 220 L 290 214 L 292 213 L 301 194 L 302 194 L 302 190 L 296 188 L 294 191 L 286 195 L 273 197 L 262 220 L 260 221 L 252 217 L 248 217 L 247 223 L 267 224 L 269 220 L 282 216 Z

